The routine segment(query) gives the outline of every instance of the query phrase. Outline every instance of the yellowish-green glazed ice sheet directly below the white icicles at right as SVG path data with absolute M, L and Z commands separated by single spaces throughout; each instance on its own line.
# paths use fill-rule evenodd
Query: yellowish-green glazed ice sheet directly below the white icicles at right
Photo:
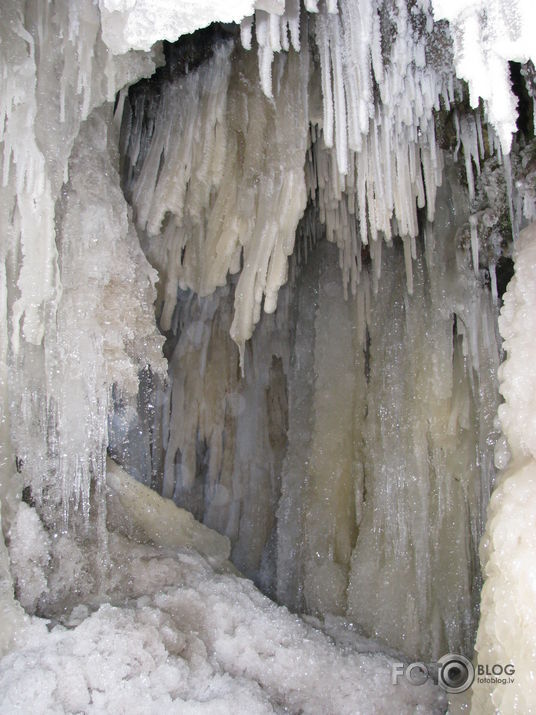
M 457 195 L 454 203 L 463 225 L 466 199 Z M 315 329 L 308 329 L 314 337 L 296 337 L 291 366 L 299 369 L 287 378 L 289 446 L 277 534 L 279 598 L 306 612 L 347 614 L 367 633 L 427 657 L 471 648 L 479 576 L 465 554 L 474 563 L 494 473 L 498 365 L 492 302 L 470 261 L 459 264 L 444 209 L 437 220 L 441 248 L 426 269 L 417 249 L 412 297 L 396 247 L 382 252 L 377 295 L 364 271 L 357 304 L 344 302 L 333 256 L 316 249 L 312 264 L 322 269 L 297 322 L 300 330 L 303 313 L 309 325 L 306 316 L 315 311 Z M 441 240 L 443 233 L 450 240 Z M 441 551 L 455 541 L 456 561 Z M 291 558 L 287 544 L 294 545 Z M 419 594 L 407 609 L 390 600 L 395 582 Z M 449 616 L 453 603 L 465 604 L 464 626 Z M 425 615 L 433 608 L 437 620 Z M 424 634 L 422 622 L 434 626 Z

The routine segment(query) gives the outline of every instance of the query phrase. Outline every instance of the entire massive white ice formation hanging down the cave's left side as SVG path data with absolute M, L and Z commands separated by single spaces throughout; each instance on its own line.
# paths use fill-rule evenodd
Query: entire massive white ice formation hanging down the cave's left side
M 138 364 L 163 368 L 155 274 L 119 188 L 111 108 L 79 134 L 93 107 L 155 63 L 113 58 L 89 1 L 7 2 L 2 17 L 2 394 L 12 438 L 2 483 L 17 455 L 35 498 L 46 493 L 67 512 L 79 500 L 87 508 L 90 479 L 104 476 L 113 382 L 135 394 Z

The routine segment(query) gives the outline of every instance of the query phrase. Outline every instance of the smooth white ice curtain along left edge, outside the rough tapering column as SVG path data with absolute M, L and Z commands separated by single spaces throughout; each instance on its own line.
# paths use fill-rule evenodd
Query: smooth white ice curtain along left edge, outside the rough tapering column
M 53 11 L 46 3 L 8 0 L 2 5 L 0 32 L 0 261 L 6 278 L 2 286 L 6 321 L 3 366 L 8 376 L 4 402 L 10 412 L 11 433 L 2 484 L 11 480 L 17 455 L 19 467 L 24 463 L 24 479 L 33 485 L 38 498 L 58 462 L 69 454 L 71 463 L 63 465 L 60 479 L 67 478 L 69 484 L 65 490 L 57 485 L 54 500 L 62 490 L 66 498 L 79 491 L 84 475 L 96 463 L 95 444 L 99 442 L 99 435 L 86 424 L 91 445 L 78 443 L 75 458 L 70 446 L 77 438 L 58 441 L 54 428 L 58 409 L 61 412 L 58 393 L 62 386 L 58 383 L 72 369 L 61 360 L 58 364 L 55 341 L 63 278 L 57 249 L 57 200 L 68 179 L 68 157 L 81 122 L 95 106 L 113 100 L 123 84 L 152 73 L 159 55 L 157 51 L 145 55 L 130 52 L 113 57 L 100 37 L 99 12 L 91 0 L 57 3 Z M 77 285 L 84 283 L 80 275 L 83 272 L 76 277 Z M 74 277 L 71 280 L 74 289 Z M 67 306 L 64 316 L 66 310 Z M 74 317 L 71 325 L 73 321 Z M 83 353 L 84 345 L 79 348 Z M 91 403 L 80 391 L 71 397 L 80 399 L 78 405 L 73 402 L 68 415 L 64 411 L 71 425 L 83 425 L 77 410 L 91 410 L 90 405 L 100 405 L 101 413 L 95 411 L 97 422 L 106 419 L 99 395 Z M 95 425 L 92 417 L 90 420 Z

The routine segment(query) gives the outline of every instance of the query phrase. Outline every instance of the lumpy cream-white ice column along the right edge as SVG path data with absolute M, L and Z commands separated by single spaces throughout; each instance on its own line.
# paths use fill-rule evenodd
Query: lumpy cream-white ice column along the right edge
M 534 320 L 536 316 L 536 227 L 531 224 L 515 246 L 515 276 L 501 310 L 499 326 L 506 360 L 501 365 L 499 408 L 507 440 L 497 461 L 508 465 L 493 493 L 481 557 L 486 578 L 476 650 L 486 669 L 474 686 L 473 711 L 531 712 L 534 688 L 534 523 L 536 443 L 534 436 Z M 505 454 L 506 451 L 506 454 Z M 494 665 L 513 664 L 513 683 Z M 493 677 L 495 676 L 495 680 Z

